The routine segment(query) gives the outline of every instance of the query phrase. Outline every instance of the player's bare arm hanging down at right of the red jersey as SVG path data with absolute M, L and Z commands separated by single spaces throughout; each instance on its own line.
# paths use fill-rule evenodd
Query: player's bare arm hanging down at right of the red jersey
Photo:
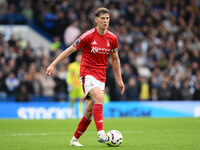
M 112 60 L 112 66 L 113 66 L 113 69 L 114 69 L 116 77 L 117 77 L 118 86 L 121 90 L 121 94 L 123 94 L 124 93 L 124 83 L 123 83 L 122 77 L 121 77 L 119 55 L 117 52 L 115 52 L 115 53 L 110 53 L 110 56 L 111 56 L 111 60 Z

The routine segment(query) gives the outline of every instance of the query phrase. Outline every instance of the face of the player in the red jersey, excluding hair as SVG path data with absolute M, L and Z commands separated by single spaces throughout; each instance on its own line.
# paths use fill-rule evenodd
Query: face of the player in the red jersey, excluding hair
M 103 30 L 106 30 L 109 26 L 110 15 L 108 13 L 101 14 L 99 17 L 95 18 L 97 26 Z

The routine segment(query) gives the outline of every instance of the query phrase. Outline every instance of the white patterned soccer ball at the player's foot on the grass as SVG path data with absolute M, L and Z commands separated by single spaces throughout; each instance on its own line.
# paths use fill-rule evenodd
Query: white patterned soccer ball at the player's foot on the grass
M 108 141 L 106 142 L 109 146 L 120 146 L 123 142 L 122 134 L 117 130 L 110 130 L 108 133 Z

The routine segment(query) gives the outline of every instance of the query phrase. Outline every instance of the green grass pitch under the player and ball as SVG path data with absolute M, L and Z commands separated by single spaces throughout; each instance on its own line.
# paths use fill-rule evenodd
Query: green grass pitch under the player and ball
M 94 121 L 80 138 L 84 147 L 69 141 L 79 119 L 0 120 L 0 150 L 200 150 L 200 118 L 104 119 L 104 129 L 121 131 L 120 147 L 97 142 Z

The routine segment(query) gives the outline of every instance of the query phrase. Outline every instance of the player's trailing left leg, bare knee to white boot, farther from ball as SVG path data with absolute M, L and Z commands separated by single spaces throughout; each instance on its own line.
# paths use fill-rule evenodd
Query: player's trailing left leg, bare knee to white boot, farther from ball
M 71 146 L 83 146 L 78 142 L 80 136 L 87 130 L 88 126 L 92 121 L 92 111 L 93 111 L 94 102 L 91 100 L 85 100 L 85 112 L 84 116 L 78 124 L 78 127 L 74 133 L 72 140 L 70 141 Z

